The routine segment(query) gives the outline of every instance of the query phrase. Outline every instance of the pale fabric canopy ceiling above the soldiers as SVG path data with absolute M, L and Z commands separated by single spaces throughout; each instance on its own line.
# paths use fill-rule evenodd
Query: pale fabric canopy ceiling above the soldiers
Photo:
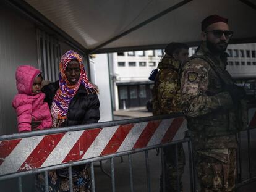
M 212 14 L 229 19 L 233 43 L 256 42 L 254 0 L 25 1 L 96 52 L 163 48 L 171 41 L 195 44 L 201 21 Z

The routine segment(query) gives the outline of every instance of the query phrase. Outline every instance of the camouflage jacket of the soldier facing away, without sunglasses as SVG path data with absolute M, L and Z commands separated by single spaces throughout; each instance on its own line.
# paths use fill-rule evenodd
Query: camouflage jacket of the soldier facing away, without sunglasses
M 153 115 L 181 112 L 179 62 L 165 55 L 158 69 L 153 88 Z

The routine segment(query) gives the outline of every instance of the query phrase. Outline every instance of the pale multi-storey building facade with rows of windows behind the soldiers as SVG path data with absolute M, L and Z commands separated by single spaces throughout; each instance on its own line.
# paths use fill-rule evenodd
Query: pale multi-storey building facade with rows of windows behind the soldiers
M 195 54 L 197 47 L 189 48 L 189 56 Z M 236 83 L 244 86 L 247 93 L 256 93 L 256 44 L 231 44 L 227 70 Z M 163 50 L 116 52 L 109 54 L 111 72 L 113 109 L 146 106 L 151 99 L 153 81 L 148 77 L 163 56 Z

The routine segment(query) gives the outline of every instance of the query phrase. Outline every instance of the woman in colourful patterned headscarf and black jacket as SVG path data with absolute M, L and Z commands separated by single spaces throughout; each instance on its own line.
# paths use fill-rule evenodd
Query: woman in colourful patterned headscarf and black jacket
M 88 81 L 82 57 L 67 51 L 59 64 L 59 81 L 43 87 L 45 101 L 51 109 L 53 127 L 96 123 L 100 119 L 98 91 Z M 49 172 L 49 191 L 69 191 L 67 169 Z M 72 167 L 73 190 L 90 191 L 90 177 L 86 165 Z M 44 191 L 43 175 L 37 176 L 36 187 Z

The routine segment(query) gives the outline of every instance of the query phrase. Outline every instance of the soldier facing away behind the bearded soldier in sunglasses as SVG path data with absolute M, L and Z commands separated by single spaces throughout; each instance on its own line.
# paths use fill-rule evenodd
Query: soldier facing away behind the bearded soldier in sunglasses
M 155 78 L 153 88 L 153 115 L 171 114 L 181 112 L 180 105 L 180 67 L 189 55 L 189 47 L 183 43 L 170 43 L 166 47 L 166 54 L 158 64 L 159 72 Z M 168 146 L 164 148 L 165 164 L 165 183 L 166 192 L 177 191 L 177 172 L 176 172 L 176 148 Z M 184 170 L 184 151 L 182 143 L 178 145 L 179 156 L 179 185 L 182 191 L 181 176 Z M 163 191 L 163 178 L 161 177 L 160 187 Z

